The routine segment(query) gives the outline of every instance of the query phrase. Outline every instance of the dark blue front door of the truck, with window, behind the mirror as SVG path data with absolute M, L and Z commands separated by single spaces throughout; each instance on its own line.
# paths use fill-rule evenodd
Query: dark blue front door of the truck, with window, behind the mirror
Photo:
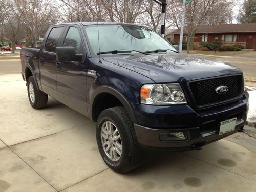
M 76 54 L 83 56 L 80 61 L 59 63 L 60 66 L 56 69 L 58 100 L 87 116 L 86 53 L 79 28 L 70 26 L 61 44 L 65 47 L 74 47 Z

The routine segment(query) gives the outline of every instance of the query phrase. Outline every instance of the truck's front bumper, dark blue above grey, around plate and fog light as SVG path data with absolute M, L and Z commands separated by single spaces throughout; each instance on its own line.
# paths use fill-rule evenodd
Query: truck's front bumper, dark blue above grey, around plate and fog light
M 188 105 L 179 105 L 180 109 L 179 106 L 170 107 L 170 109 L 178 111 L 172 110 L 168 114 L 165 108 L 165 111 L 158 109 L 155 114 L 141 112 L 141 116 L 137 116 L 137 119 L 142 118 L 144 121 L 146 116 L 150 117 L 144 121 L 144 124 L 150 122 L 151 126 L 134 123 L 137 140 L 141 146 L 158 151 L 187 151 L 200 148 L 205 144 L 236 133 L 244 127 L 248 110 L 248 98 L 249 95 L 245 92 L 240 101 L 204 112 L 192 111 Z M 188 110 L 185 110 L 185 108 Z M 234 117 L 237 117 L 235 130 L 219 135 L 220 122 Z M 139 119 L 138 122 L 141 122 L 142 119 Z M 187 138 L 182 141 L 160 140 L 160 134 L 170 132 L 186 132 Z

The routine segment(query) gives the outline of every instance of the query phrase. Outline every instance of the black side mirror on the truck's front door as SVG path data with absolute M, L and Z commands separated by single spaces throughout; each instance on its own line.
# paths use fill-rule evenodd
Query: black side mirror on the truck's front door
M 78 61 L 82 60 L 83 54 L 76 54 L 74 47 L 56 47 L 56 59 L 59 62 L 63 61 Z

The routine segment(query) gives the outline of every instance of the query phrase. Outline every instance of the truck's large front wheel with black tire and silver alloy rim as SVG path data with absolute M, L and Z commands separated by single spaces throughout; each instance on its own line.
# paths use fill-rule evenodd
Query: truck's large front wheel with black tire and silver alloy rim
M 101 157 L 115 172 L 125 173 L 140 166 L 143 151 L 123 106 L 106 109 L 99 115 L 96 139 Z

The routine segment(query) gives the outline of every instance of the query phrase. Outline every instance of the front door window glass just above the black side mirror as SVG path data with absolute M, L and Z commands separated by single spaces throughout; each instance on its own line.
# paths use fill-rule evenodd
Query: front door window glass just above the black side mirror
M 83 53 L 82 40 L 79 31 L 75 27 L 70 27 L 63 43 L 64 47 L 74 47 L 76 53 Z

